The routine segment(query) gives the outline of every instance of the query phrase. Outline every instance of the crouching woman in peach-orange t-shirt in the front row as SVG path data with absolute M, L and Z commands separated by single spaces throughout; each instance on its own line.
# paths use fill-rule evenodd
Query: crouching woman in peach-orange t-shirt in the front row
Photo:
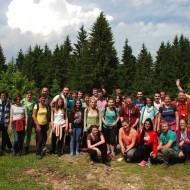
M 125 156 L 127 162 L 133 160 L 136 151 L 137 131 L 132 128 L 126 120 L 122 121 L 122 127 L 119 130 L 119 146 L 121 153 Z

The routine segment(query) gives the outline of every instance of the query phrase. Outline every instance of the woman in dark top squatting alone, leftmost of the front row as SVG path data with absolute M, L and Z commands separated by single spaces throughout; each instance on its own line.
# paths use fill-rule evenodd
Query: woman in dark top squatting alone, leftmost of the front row
M 88 153 L 90 154 L 90 162 L 93 163 L 97 156 L 102 157 L 102 162 L 106 166 L 110 166 L 107 157 L 107 148 L 103 134 L 98 130 L 97 125 L 91 125 L 91 133 L 87 136 Z

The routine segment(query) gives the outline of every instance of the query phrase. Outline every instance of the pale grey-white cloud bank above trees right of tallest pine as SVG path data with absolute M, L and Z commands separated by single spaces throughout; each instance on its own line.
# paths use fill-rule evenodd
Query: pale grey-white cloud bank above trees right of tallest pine
M 156 24 L 152 22 L 144 23 L 143 21 L 131 24 L 120 22 L 113 28 L 113 33 L 119 57 L 121 57 L 126 38 L 129 40 L 129 45 L 134 50 L 135 56 L 139 54 L 144 43 L 148 51 L 155 57 L 162 41 L 165 43 L 167 41 L 172 42 L 176 35 L 180 36 L 181 34 L 188 36 L 189 27 L 165 22 Z

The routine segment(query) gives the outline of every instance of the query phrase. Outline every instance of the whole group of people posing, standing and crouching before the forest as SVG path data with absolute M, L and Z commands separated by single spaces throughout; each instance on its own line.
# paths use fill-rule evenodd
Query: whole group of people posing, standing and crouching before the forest
M 117 158 L 121 151 L 127 162 L 139 166 L 162 162 L 168 167 L 175 162 L 190 163 L 190 100 L 176 82 L 180 92 L 178 99 L 164 91 L 144 99 L 137 92 L 137 99 L 122 94 L 120 88 L 114 98 L 108 97 L 105 89 L 93 89 L 92 96 L 82 91 L 70 92 L 64 87 L 52 100 L 47 87 L 42 88 L 37 101 L 32 91 L 8 99 L 8 93 L 0 93 L 0 130 L 2 131 L 1 155 L 6 146 L 13 156 L 30 151 L 32 129 L 36 133 L 36 158 L 42 159 L 50 131 L 49 153 L 62 156 L 64 145 L 70 148 L 70 157 L 88 152 L 90 162 L 99 157 L 110 166 L 110 159 Z M 8 126 L 14 134 L 14 145 L 8 134 Z M 49 129 L 50 128 L 50 129 Z M 116 146 L 117 145 L 117 146 Z

